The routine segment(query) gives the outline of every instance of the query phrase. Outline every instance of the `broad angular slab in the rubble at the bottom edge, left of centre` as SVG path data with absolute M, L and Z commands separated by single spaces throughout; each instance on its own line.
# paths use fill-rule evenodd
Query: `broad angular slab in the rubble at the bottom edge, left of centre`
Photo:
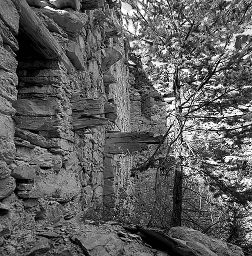
M 123 242 L 112 234 L 83 232 L 74 235 L 72 239 L 81 246 L 87 256 L 116 256 L 120 255 L 123 250 Z

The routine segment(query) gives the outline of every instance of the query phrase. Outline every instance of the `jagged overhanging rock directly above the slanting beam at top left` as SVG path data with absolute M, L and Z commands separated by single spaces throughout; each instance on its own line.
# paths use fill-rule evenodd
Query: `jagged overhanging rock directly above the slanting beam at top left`
M 67 33 L 77 33 L 87 22 L 88 16 L 85 13 L 74 11 L 70 8 L 56 10 L 51 7 L 39 8 L 36 12 L 52 18 L 56 24 L 62 27 Z

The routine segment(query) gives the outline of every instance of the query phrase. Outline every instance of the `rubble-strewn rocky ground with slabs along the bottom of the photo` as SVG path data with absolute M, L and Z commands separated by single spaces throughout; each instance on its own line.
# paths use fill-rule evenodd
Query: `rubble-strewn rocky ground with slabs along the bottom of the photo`
M 60 219 L 56 223 L 44 220 L 26 223 L 25 226 L 15 226 L 11 234 L 0 237 L 1 256 L 244 255 L 236 245 L 187 227 L 171 228 L 167 236 L 155 229 L 143 228 L 139 232 L 137 226 L 123 227 L 115 221 L 84 220 L 83 223 L 76 223 Z M 167 241 L 169 246 L 166 246 Z

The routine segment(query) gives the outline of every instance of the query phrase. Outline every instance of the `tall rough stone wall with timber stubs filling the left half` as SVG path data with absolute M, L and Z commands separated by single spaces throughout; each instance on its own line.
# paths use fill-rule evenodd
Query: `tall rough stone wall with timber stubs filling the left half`
M 0 232 L 5 234 L 18 221 L 16 214 L 79 219 L 103 196 L 106 201 L 115 195 L 130 161 L 123 154 L 104 154 L 105 134 L 130 131 L 130 120 L 118 6 L 104 0 L 3 0 L 1 6 Z

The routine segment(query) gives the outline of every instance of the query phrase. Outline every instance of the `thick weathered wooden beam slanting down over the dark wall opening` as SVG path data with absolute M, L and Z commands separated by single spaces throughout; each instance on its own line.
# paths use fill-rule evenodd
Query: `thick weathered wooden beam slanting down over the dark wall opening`
M 61 59 L 68 73 L 74 67 L 36 13 L 25 0 L 12 0 L 19 14 L 19 29 L 31 41 L 34 50 L 45 59 Z

